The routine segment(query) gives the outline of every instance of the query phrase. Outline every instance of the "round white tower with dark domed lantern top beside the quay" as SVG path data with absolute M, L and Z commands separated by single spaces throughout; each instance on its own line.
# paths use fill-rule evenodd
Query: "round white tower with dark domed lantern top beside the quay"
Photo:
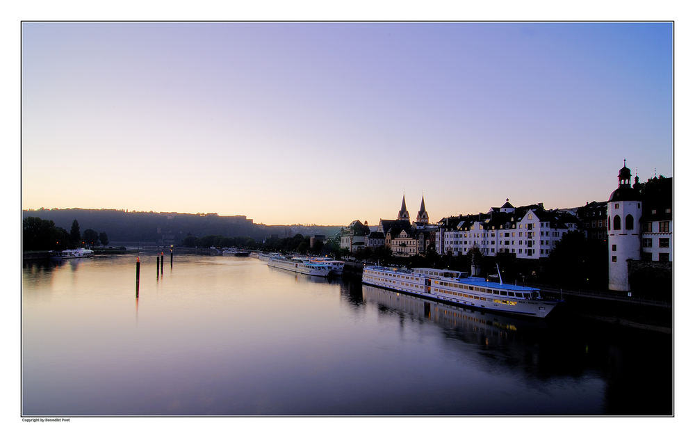
M 629 291 L 628 260 L 639 260 L 639 220 L 642 202 L 630 186 L 632 174 L 626 168 L 618 173 L 618 188 L 608 200 L 608 289 Z

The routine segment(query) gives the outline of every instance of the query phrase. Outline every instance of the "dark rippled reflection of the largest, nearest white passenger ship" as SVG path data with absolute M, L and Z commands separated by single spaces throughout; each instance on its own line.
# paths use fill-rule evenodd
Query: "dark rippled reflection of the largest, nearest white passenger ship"
M 489 337 L 507 337 L 520 329 L 537 330 L 547 327 L 547 323 L 543 320 L 514 318 L 514 316 L 500 315 L 496 312 L 486 313 L 468 307 L 446 305 L 442 302 L 388 291 L 367 284 L 363 285 L 362 291 L 366 302 L 374 302 L 379 307 L 402 311 L 418 319 L 428 319 L 446 330 L 455 330 L 459 335 L 457 337 L 471 332 Z M 466 340 L 473 341 L 473 339 L 464 339 Z M 486 337 L 484 343 L 488 342 L 489 339 Z

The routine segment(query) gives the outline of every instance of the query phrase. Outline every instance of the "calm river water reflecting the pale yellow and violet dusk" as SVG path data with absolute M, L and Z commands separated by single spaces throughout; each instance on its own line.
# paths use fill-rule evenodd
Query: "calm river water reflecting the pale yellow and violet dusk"
M 22 414 L 669 415 L 671 336 L 237 257 L 24 263 Z

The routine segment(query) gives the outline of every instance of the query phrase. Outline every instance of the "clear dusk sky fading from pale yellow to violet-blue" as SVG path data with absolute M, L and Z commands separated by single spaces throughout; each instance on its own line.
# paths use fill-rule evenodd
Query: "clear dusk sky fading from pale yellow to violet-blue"
M 660 22 L 24 22 L 22 209 L 603 201 L 623 159 L 673 176 L 672 53 Z

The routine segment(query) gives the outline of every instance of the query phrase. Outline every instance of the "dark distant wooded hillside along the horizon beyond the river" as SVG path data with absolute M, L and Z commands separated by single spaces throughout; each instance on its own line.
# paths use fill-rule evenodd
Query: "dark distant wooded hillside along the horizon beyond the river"
M 188 234 L 202 237 L 220 235 L 226 237 L 249 236 L 256 240 L 277 235 L 280 238 L 324 234 L 334 236 L 341 227 L 304 225 L 254 224 L 246 216 L 218 216 L 217 213 L 154 213 L 144 211 L 90 210 L 90 209 L 39 209 L 23 210 L 22 218 L 36 217 L 53 220 L 56 227 L 70 231 L 72 221 L 77 220 L 80 230 L 91 228 L 106 232 L 109 241 L 157 242 L 177 245 Z

